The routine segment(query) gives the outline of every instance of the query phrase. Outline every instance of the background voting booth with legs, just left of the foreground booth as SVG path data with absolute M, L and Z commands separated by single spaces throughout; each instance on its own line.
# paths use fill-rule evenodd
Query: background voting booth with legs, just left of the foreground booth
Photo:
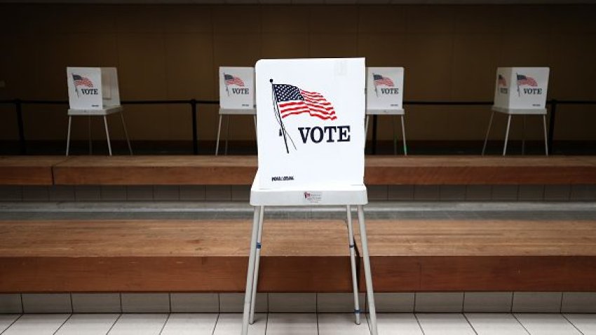
M 222 116 L 226 116 L 226 146 L 228 153 L 228 135 L 230 115 L 252 115 L 257 129 L 257 110 L 255 109 L 255 68 L 254 67 L 219 67 L 219 125 L 215 156 L 219 153 L 219 134 L 222 131 Z

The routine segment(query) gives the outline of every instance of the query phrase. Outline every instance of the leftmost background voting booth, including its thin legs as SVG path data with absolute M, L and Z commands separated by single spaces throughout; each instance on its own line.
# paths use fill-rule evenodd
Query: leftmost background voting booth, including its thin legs
M 106 129 L 107 148 L 111 156 L 111 144 L 109 143 L 109 130 L 107 116 L 120 113 L 124 135 L 130 154 L 133 149 L 130 146 L 126 124 L 124 123 L 123 109 L 120 105 L 120 93 L 118 93 L 118 74 L 115 67 L 67 67 L 68 100 L 68 133 L 66 142 L 66 155 L 69 153 L 70 128 L 73 116 L 88 116 L 89 123 L 89 153 L 91 146 L 91 116 L 103 116 Z

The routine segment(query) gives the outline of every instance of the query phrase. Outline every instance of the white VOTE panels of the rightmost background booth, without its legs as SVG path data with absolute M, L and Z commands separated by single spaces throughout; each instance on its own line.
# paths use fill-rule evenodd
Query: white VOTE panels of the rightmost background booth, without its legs
M 499 67 L 496 69 L 495 107 L 546 108 L 548 73 L 548 67 Z

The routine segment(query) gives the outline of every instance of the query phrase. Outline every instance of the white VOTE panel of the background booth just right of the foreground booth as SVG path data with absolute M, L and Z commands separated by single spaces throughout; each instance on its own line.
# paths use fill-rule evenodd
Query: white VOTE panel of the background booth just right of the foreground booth
M 403 67 L 369 67 L 367 69 L 366 108 L 403 109 Z

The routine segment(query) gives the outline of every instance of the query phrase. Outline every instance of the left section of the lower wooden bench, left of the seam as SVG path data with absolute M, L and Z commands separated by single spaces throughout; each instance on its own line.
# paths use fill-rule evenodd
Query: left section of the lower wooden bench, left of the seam
M 249 221 L 0 222 L 0 292 L 243 292 Z M 349 292 L 342 221 L 265 221 L 262 292 Z

